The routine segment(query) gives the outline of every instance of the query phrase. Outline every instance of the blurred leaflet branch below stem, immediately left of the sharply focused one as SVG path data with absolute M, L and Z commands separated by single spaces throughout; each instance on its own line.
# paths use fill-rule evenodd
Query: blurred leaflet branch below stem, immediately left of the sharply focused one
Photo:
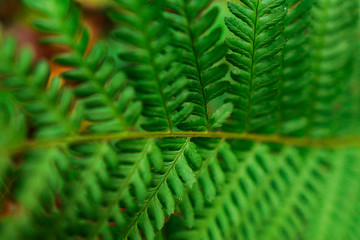
M 73 224 L 69 224 L 72 232 L 88 239 L 111 238 L 119 230 L 124 231 L 128 224 L 127 212 L 135 211 L 144 200 L 144 193 L 153 180 L 153 172 L 160 171 L 163 165 L 159 157 L 161 153 L 151 139 L 121 141 L 111 147 L 106 145 L 108 150 L 101 162 L 102 167 L 93 168 L 99 173 L 84 189 L 81 207 L 77 208 L 77 216 L 72 216 Z M 86 154 L 93 158 L 91 152 Z M 84 180 L 89 181 L 87 178 Z M 132 191 L 128 189 L 130 186 Z M 97 193 L 97 198 L 87 197 L 91 189 Z M 83 221 L 77 223 L 77 217 Z

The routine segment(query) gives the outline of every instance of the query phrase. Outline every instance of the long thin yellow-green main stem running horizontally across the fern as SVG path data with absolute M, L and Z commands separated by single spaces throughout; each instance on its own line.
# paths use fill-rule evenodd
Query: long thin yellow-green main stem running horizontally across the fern
M 282 137 L 279 135 L 264 135 L 251 133 L 230 133 L 230 132 L 122 132 L 122 133 L 102 133 L 93 135 L 76 135 L 60 139 L 48 140 L 30 140 L 16 146 L 8 146 L 6 152 L 21 152 L 26 149 L 47 148 L 62 144 L 73 144 L 87 141 L 116 141 L 126 139 L 143 139 L 143 138 L 223 138 L 234 140 L 247 140 L 263 143 L 276 143 L 282 145 L 291 145 L 297 147 L 358 147 L 360 146 L 360 136 L 348 136 L 341 138 L 294 138 Z

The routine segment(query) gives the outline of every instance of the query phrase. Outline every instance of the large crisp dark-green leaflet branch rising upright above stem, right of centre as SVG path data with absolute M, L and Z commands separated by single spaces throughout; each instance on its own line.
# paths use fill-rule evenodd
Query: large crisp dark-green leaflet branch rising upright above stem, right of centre
M 273 125 L 278 107 L 285 1 L 229 1 L 228 6 L 235 18 L 225 22 L 237 38 L 226 40 L 232 51 L 226 59 L 235 67 L 229 99 L 235 110 L 227 129 L 263 131 Z

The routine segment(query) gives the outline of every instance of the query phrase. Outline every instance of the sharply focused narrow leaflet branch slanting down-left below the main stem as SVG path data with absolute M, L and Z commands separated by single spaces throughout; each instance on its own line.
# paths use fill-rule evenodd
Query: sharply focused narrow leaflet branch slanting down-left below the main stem
M 146 239 L 154 239 L 156 231 L 165 223 L 165 217 L 175 211 L 176 202 L 196 182 L 196 172 L 201 168 L 202 159 L 194 151 L 190 139 L 163 139 L 158 143 L 164 157 L 164 169 L 154 176 L 139 211 L 133 212 L 124 237 L 139 239 L 140 231 Z

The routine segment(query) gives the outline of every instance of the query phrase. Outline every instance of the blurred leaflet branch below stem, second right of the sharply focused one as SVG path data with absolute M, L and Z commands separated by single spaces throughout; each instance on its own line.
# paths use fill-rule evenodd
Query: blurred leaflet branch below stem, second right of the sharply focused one
M 241 154 L 240 159 L 244 158 L 245 164 L 249 159 L 254 159 L 256 148 L 254 147 L 247 154 Z M 174 226 L 170 225 L 169 229 L 172 239 L 223 239 L 229 234 L 229 224 L 234 225 L 238 222 L 239 209 L 237 209 L 237 200 L 234 199 L 238 197 L 236 193 L 240 194 L 240 192 L 237 191 L 239 189 L 233 188 L 239 187 L 237 181 L 240 175 L 243 176 L 240 174 L 243 172 L 240 171 L 240 164 L 242 165 L 243 161 L 234 158 L 228 147 L 224 146 L 223 153 L 224 165 L 217 168 L 216 172 L 203 172 L 200 176 L 203 181 L 199 180 L 199 186 L 195 186 L 190 191 L 187 202 L 183 204 L 184 216 L 188 215 L 189 210 L 194 211 L 191 224 L 187 218 L 184 222 L 173 219 Z M 218 189 L 211 190 L 212 186 L 216 186 L 216 182 L 219 181 L 216 173 L 225 176 L 225 180 Z M 209 194 L 209 191 L 213 193 Z M 235 195 L 232 196 L 232 194 Z M 187 229 L 187 227 L 191 228 Z

